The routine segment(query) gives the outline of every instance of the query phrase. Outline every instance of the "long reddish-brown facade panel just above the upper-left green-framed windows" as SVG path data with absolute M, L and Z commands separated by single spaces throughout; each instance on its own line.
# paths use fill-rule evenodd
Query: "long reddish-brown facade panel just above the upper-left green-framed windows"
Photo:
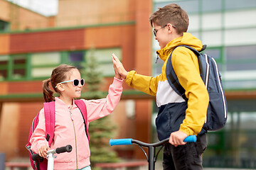
M 55 30 L 10 35 L 10 52 L 45 52 L 81 49 L 84 30 Z

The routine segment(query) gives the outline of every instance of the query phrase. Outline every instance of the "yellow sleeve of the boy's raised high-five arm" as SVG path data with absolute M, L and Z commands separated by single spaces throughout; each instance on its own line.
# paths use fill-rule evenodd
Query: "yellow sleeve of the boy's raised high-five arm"
M 128 72 L 125 82 L 128 86 L 134 89 L 142 91 L 151 96 L 156 96 L 159 77 L 148 77 L 141 74 L 137 74 L 136 71 Z

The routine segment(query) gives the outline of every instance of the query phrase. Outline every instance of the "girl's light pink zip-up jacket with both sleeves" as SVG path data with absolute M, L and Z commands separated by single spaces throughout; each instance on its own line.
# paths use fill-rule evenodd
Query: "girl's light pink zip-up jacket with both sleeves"
M 87 107 L 87 126 L 91 121 L 109 115 L 114 111 L 122 94 L 123 81 L 114 78 L 106 98 L 90 101 L 82 99 Z M 54 159 L 54 169 L 82 169 L 90 165 L 90 148 L 85 134 L 85 124 L 83 123 L 82 114 L 79 108 L 75 106 L 74 101 L 71 113 L 70 106 L 65 105 L 60 98 L 55 98 L 55 131 L 50 149 L 71 145 L 73 150 L 70 153 L 57 154 L 57 158 Z M 38 126 L 33 132 L 30 141 L 33 152 L 38 153 L 39 148 L 43 145 L 48 145 L 45 131 L 44 110 L 41 109 Z

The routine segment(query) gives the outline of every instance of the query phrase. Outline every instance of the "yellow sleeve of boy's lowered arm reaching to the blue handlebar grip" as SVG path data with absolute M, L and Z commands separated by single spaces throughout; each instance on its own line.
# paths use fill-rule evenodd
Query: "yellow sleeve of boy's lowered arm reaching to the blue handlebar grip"
M 180 130 L 187 135 L 201 132 L 209 103 L 208 91 L 200 77 L 198 57 L 186 47 L 179 47 L 171 57 L 174 72 L 186 90 L 188 108 Z

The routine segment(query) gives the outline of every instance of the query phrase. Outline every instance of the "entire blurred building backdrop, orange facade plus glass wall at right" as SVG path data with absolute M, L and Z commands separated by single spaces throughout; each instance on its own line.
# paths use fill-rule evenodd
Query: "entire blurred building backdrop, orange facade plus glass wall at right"
M 8 159 L 27 157 L 33 117 L 43 107 L 42 80 L 58 64 L 86 63 L 90 49 L 112 82 L 111 54 L 127 70 L 160 73 L 159 49 L 149 24 L 158 7 L 175 2 L 189 15 L 188 32 L 208 45 L 218 62 L 228 99 L 228 123 L 208 133 L 205 166 L 255 168 L 256 159 L 256 3 L 253 0 L 59 0 L 56 16 L 42 16 L 0 0 L 0 152 Z M 86 81 L 86 80 L 85 80 Z M 86 98 L 86 87 L 82 94 Z M 156 139 L 154 97 L 124 84 L 122 101 L 111 118 L 117 137 L 144 142 Z M 6 142 L 8 141 L 8 142 Z M 122 157 L 144 159 L 135 147 L 115 147 Z

